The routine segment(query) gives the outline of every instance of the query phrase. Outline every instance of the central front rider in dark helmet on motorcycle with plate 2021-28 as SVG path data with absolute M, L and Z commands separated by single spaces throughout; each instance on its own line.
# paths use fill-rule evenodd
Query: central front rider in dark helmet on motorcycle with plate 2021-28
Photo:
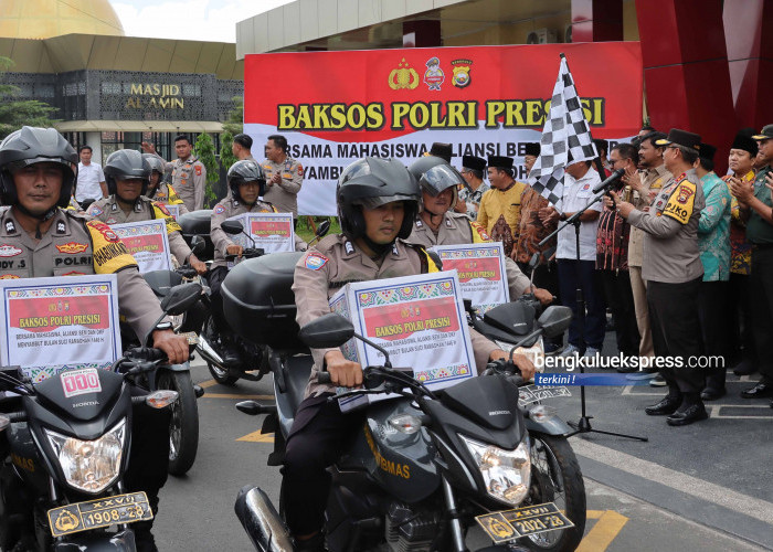
M 293 291 L 301 327 L 330 312 L 329 298 L 348 283 L 438 270 L 421 245 L 403 241 L 419 213 L 420 190 L 402 163 L 372 157 L 352 163 L 338 181 L 336 199 L 342 234 L 321 240 L 295 268 Z M 507 357 L 474 330 L 470 338 L 479 368 Z M 337 402 L 328 402 L 337 385 L 362 384 L 360 364 L 347 360 L 338 348 L 314 349 L 311 354 L 315 364 L 284 463 L 285 518 L 299 551 L 326 550 L 321 532 L 330 486 L 326 467 L 362 425 L 361 415 L 345 415 Z M 534 367 L 526 357 L 516 355 L 515 361 L 523 378 L 533 375 Z M 331 384 L 319 383 L 320 370 L 330 373 Z

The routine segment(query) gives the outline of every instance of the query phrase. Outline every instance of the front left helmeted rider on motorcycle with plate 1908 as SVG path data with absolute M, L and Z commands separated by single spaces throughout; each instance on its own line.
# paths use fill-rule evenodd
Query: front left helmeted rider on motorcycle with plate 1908
M 128 323 L 139 336 L 151 333 L 152 346 L 170 363 L 184 362 L 186 339 L 174 335 L 168 320 L 153 329 L 162 311 L 123 242 L 106 224 L 65 209 L 74 191 L 77 160 L 73 147 L 53 128 L 23 127 L 0 144 L 0 191 L 6 205 L 0 210 L 0 241 L 18 250 L 3 263 L 0 278 L 115 274 L 119 311 Z M 133 420 L 125 485 L 128 491 L 144 490 L 153 512 L 167 479 L 168 416 L 167 410 L 150 412 L 141 405 Z M 135 524 L 140 551 L 157 550 L 151 526 L 152 521 Z

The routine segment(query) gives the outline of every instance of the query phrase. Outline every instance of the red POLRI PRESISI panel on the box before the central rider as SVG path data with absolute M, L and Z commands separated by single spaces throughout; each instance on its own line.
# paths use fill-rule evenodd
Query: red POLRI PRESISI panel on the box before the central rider
M 368 336 L 394 341 L 416 331 L 457 331 L 456 299 L 426 299 L 415 305 L 386 305 L 363 310 Z

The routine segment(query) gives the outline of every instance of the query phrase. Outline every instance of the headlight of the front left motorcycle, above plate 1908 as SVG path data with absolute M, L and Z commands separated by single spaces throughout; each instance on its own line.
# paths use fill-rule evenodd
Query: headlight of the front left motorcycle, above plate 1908
M 45 429 L 67 484 L 97 493 L 118 478 L 126 440 L 126 418 L 94 440 L 81 440 Z

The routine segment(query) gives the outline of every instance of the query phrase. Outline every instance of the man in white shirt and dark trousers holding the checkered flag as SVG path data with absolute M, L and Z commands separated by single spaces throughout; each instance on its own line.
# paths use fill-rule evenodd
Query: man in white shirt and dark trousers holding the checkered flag
M 591 198 L 593 189 L 601 183 L 599 173 L 591 168 L 591 161 L 579 161 L 566 166 L 563 180 L 563 197 L 559 211 L 550 206 L 546 212 L 546 221 L 566 220 L 583 209 Z M 580 262 L 576 261 L 576 237 L 573 226 L 566 226 L 558 236 L 555 258 L 559 267 L 559 285 L 561 301 L 571 307 L 572 325 L 569 327 L 569 344 L 561 355 L 584 354 L 594 357 L 601 352 L 604 343 L 606 327 L 606 309 L 604 294 L 597 282 L 596 262 L 596 229 L 601 203 L 594 203 L 580 216 Z M 576 288 L 582 287 L 585 299 L 585 322 L 580 332 L 578 318 Z

